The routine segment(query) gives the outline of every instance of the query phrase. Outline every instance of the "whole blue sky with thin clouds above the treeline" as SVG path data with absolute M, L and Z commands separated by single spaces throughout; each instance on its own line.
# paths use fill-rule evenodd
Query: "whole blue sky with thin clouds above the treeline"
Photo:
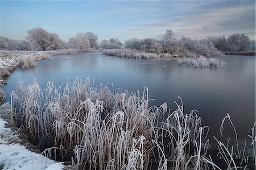
M 68 41 L 78 32 L 98 39 L 201 39 L 245 33 L 255 39 L 255 1 L 0 1 L 0 36 L 24 39 L 42 27 Z

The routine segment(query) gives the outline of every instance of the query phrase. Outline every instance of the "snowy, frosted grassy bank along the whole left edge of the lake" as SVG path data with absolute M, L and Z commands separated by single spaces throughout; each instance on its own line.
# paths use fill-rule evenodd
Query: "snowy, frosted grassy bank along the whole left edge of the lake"
M 0 169 L 63 169 L 65 165 L 33 152 L 35 146 L 20 138 L 14 123 L 9 123 L 11 107 L 4 103 L 5 93 L 1 89 L 7 84 L 3 79 L 15 68 L 31 68 L 37 61 L 52 59 L 53 55 L 93 52 L 90 50 L 62 49 L 57 51 L 0 51 Z M 8 116 L 7 116 L 8 115 Z M 6 121 L 8 122 L 6 122 Z M 6 125 L 8 124 L 8 127 Z M 36 147 L 35 147 L 36 148 Z M 32 151 L 31 151 L 32 150 Z M 69 167 L 65 167 L 69 169 Z

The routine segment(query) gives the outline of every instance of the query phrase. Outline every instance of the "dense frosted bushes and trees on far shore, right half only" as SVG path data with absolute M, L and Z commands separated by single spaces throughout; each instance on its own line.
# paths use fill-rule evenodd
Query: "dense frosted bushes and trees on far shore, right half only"
M 208 36 L 205 39 L 192 40 L 182 36 L 175 39 L 174 32 L 167 30 L 162 40 L 152 38 L 130 39 L 125 47 L 149 53 L 169 53 L 172 56 L 219 56 L 228 55 L 255 55 L 255 40 L 250 40 L 245 34 L 225 36 Z

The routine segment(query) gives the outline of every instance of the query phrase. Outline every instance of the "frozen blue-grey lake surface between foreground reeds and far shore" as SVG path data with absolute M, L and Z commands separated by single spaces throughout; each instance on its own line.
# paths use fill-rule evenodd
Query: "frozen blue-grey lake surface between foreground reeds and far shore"
M 177 59 L 123 59 L 104 56 L 102 53 L 80 55 L 59 55 L 53 60 L 44 60 L 38 67 L 15 69 L 6 78 L 3 87 L 7 99 L 15 90 L 18 81 L 30 84 L 37 78 L 40 86 L 46 88 L 48 81 L 56 86 L 76 77 L 94 78 L 94 86 L 102 83 L 112 89 L 124 88 L 129 92 L 149 89 L 149 96 L 155 101 L 151 105 L 166 102 L 175 110 L 174 101 L 183 99 L 185 113 L 192 109 L 199 111 L 203 125 L 209 125 L 210 135 L 220 136 L 222 118 L 229 113 L 237 128 L 241 141 L 247 139 L 255 121 L 255 57 L 221 56 L 224 68 L 195 68 L 177 64 Z M 228 125 L 228 124 L 227 124 Z M 230 133 L 230 134 L 228 134 Z M 225 128 L 224 135 L 234 132 Z

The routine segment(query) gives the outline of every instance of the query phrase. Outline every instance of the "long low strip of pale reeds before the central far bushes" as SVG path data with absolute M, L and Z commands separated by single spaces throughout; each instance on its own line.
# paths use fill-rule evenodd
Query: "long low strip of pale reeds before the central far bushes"
M 104 55 L 135 58 L 135 59 L 157 59 L 159 56 L 155 53 L 140 52 L 136 49 L 104 49 Z

